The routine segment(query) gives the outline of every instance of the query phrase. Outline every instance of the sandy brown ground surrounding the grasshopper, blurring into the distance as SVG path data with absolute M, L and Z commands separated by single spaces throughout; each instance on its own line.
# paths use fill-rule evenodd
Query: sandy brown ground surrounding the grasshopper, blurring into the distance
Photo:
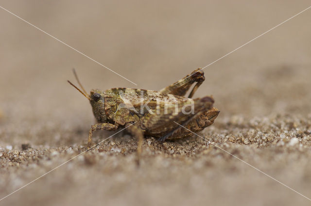
M 159 90 L 310 6 L 299 1 L 0 1 L 0 198 L 84 151 L 95 123 L 66 82 Z M 185 140 L 118 133 L 0 205 L 310 205 L 311 11 L 205 69 L 213 126 Z M 96 132 L 99 143 L 113 132 Z M 213 144 L 233 154 L 232 157 Z M 241 160 L 250 165 L 242 162 Z M 257 169 L 255 169 L 257 168 Z M 282 184 L 296 190 L 287 188 Z

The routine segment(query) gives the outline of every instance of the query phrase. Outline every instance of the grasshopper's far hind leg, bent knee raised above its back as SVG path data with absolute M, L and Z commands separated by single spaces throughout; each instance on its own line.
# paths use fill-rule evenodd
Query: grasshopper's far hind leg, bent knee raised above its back
M 190 75 L 184 77 L 183 79 L 180 79 L 179 81 L 173 83 L 172 85 L 167 86 L 164 89 L 161 89 L 160 92 L 184 96 L 190 89 L 191 85 L 194 82 L 197 82 L 197 84 L 193 87 L 190 95 L 188 96 L 189 98 L 191 98 L 194 95 L 197 88 L 202 84 L 204 80 L 205 80 L 204 72 L 200 68 L 198 68 L 193 72 L 191 72 Z

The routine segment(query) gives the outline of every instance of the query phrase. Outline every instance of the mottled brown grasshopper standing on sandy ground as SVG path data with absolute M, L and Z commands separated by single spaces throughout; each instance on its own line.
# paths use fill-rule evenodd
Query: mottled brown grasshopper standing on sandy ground
M 160 91 L 112 88 L 105 91 L 91 90 L 89 95 L 73 72 L 82 91 L 68 82 L 90 101 L 98 122 L 89 130 L 88 148 L 91 146 L 93 131 L 127 127 L 127 131 L 138 138 L 139 157 L 144 136 L 155 137 L 159 141 L 184 138 L 192 135 L 190 131 L 198 132 L 213 124 L 220 112 L 212 107 L 214 100 L 210 96 L 191 99 L 205 80 L 200 68 Z M 188 98 L 184 97 L 195 82 Z

